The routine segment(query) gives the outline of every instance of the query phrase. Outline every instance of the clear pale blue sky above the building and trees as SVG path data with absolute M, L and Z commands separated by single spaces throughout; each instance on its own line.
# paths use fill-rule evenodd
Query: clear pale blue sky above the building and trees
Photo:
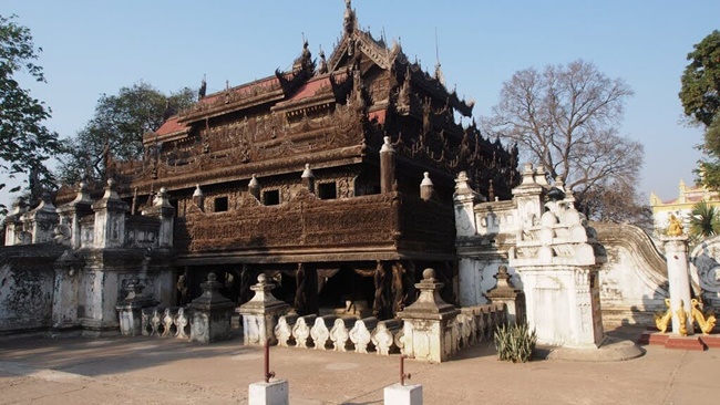
M 48 83 L 22 84 L 52 108 L 47 126 L 73 136 L 101 94 L 140 81 L 169 93 L 208 93 L 288 70 L 309 41 L 326 54 L 342 33 L 344 0 L 97 1 L 3 0 L 42 52 Z M 692 45 L 720 29 L 720 1 L 354 0 L 360 25 L 401 43 L 432 72 L 436 55 L 450 89 L 491 114 L 503 82 L 531 66 L 583 59 L 635 91 L 620 134 L 645 145 L 639 190 L 677 197 L 695 181 L 700 128 L 678 98 Z M 12 196 L 0 190 L 0 202 Z

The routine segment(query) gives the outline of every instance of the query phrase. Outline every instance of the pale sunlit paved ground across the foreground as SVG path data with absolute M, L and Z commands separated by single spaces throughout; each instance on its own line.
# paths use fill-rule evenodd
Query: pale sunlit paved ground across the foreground
M 646 346 L 613 363 L 498 362 L 487 343 L 443 364 L 407 362 L 425 404 L 718 404 L 720 350 Z M 291 404 L 382 404 L 398 356 L 271 349 Z M 234 340 L 161 338 L 0 341 L 0 404 L 246 404 L 263 351 Z

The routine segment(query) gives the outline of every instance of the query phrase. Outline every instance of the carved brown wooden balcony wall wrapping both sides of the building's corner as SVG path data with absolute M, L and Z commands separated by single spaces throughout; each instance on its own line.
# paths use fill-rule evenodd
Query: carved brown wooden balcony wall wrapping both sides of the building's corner
M 454 255 L 452 207 L 400 193 L 321 200 L 304 193 L 175 222 L 179 264 L 442 259 Z

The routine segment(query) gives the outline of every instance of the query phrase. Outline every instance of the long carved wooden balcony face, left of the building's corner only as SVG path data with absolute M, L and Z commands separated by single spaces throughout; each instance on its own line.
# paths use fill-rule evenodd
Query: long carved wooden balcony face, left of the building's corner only
M 397 212 L 392 195 L 319 200 L 299 193 L 278 206 L 244 207 L 178 218 L 179 251 L 240 251 L 263 247 L 338 247 L 392 242 Z

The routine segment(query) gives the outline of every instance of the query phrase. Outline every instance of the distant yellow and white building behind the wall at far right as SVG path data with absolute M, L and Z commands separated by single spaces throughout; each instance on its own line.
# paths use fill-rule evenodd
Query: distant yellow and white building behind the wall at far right
M 700 201 L 708 201 L 710 206 L 720 207 L 720 194 L 711 191 L 704 186 L 687 186 L 682 180 L 678 186 L 678 197 L 675 199 L 664 201 L 655 193 L 651 193 L 650 206 L 652 207 L 655 228 L 667 228 L 670 214 L 675 214 L 676 217 L 682 218 L 683 222 L 688 222 L 692 207 Z

